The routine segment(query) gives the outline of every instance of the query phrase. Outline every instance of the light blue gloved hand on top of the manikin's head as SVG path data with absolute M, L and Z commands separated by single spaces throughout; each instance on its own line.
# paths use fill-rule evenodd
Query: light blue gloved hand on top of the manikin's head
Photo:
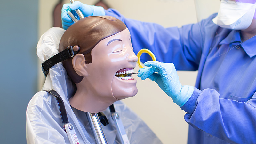
M 79 1 L 75 1 L 73 4 L 64 4 L 61 9 L 61 20 L 63 29 L 68 29 L 68 27 L 74 24 L 74 21 L 68 16 L 67 12 L 70 11 L 79 20 L 75 10 L 79 9 L 84 17 L 88 16 L 103 16 L 106 15 L 104 8 L 101 6 L 87 5 Z

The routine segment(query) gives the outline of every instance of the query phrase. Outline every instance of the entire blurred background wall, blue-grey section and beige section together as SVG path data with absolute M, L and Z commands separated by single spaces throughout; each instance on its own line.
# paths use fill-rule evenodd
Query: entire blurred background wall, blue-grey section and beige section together
M 99 0 L 81 0 L 96 4 Z M 217 12 L 219 0 L 103 0 L 126 18 L 154 22 L 164 27 L 196 23 Z M 25 121 L 29 100 L 44 83 L 36 56 L 40 36 L 53 26 L 53 9 L 59 0 L 1 1 L 1 143 L 26 143 Z M 69 3 L 69 0 L 64 0 Z M 59 6 L 62 6 L 60 4 Z M 135 71 L 139 68 L 136 67 Z M 197 72 L 179 71 L 183 85 L 194 86 Z M 138 82 L 138 94 L 123 100 L 164 144 L 187 142 L 185 112 L 156 83 Z

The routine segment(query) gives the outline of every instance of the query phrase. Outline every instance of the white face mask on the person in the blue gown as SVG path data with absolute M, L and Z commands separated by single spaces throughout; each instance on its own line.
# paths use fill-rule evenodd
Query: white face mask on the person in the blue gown
M 222 28 L 244 30 L 252 23 L 255 7 L 256 3 L 221 0 L 218 15 L 212 21 Z

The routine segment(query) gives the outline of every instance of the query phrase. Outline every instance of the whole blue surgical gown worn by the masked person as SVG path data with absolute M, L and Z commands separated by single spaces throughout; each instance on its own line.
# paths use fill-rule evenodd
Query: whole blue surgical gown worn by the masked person
M 195 91 L 181 107 L 189 144 L 256 143 L 256 37 L 242 42 L 240 31 L 212 22 L 216 14 L 180 28 L 124 18 L 113 9 L 106 15 L 126 24 L 135 53 L 147 48 L 177 70 L 198 70 Z

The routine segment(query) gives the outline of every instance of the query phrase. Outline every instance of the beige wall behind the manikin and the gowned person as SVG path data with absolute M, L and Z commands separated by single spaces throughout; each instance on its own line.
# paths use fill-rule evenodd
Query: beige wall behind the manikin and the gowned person
M 52 27 L 52 9 L 58 0 L 39 0 L 39 35 Z M 154 22 L 169 26 L 196 23 L 218 11 L 218 0 L 104 0 L 126 18 Z M 68 0 L 65 1 L 69 3 Z M 95 4 L 98 0 L 81 0 L 85 4 Z M 204 11 L 204 12 L 202 12 Z M 39 69 L 41 69 L 39 67 Z M 135 71 L 139 68 L 136 67 Z M 39 70 L 43 83 L 43 75 Z M 194 86 L 197 72 L 179 71 L 183 85 Z M 185 112 L 172 102 L 155 82 L 140 80 L 138 94 L 123 101 L 134 110 L 156 133 L 164 144 L 187 142 L 188 124 L 183 119 Z M 40 84 L 39 84 L 40 85 Z

